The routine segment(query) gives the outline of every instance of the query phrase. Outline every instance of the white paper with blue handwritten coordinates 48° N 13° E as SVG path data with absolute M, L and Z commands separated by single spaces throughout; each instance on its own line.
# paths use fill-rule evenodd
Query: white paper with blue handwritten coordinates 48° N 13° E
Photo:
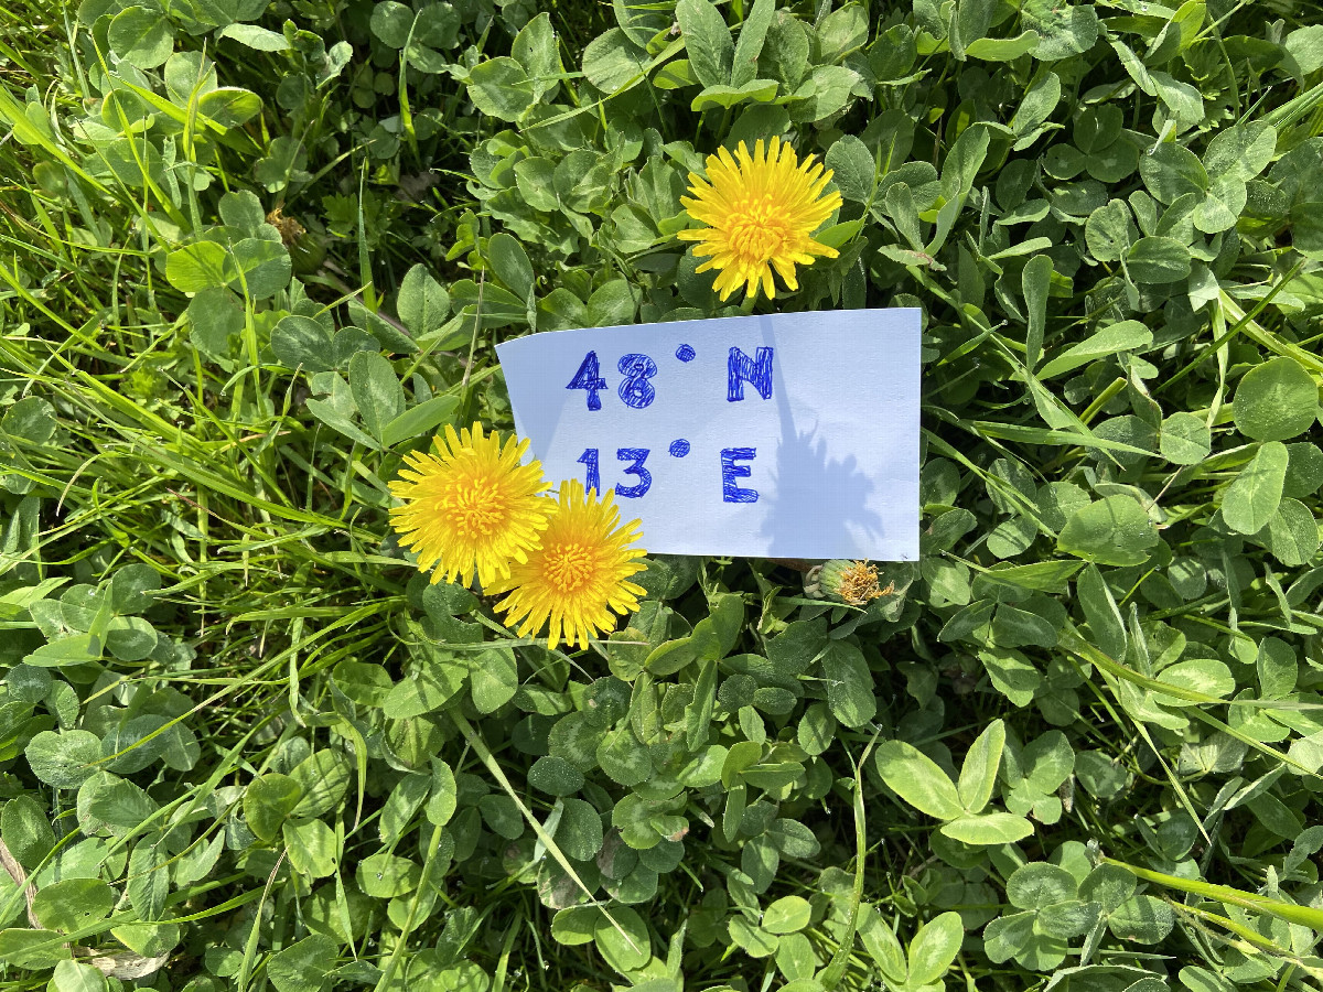
M 552 484 L 652 553 L 918 558 L 919 311 L 597 327 L 496 347 Z

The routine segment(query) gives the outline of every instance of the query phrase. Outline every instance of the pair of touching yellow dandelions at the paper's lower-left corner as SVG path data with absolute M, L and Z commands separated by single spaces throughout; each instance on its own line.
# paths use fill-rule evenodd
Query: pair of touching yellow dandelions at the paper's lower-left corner
M 586 648 L 589 638 L 615 626 L 611 610 L 639 608 L 643 570 L 639 521 L 619 525 L 615 493 L 598 499 L 581 481 L 557 496 L 536 459 L 523 464 L 528 440 L 504 444 L 482 425 L 433 442 L 434 452 L 410 452 L 390 492 L 404 505 L 390 511 L 401 542 L 418 556 L 431 581 L 474 575 L 483 590 L 505 598 L 496 608 L 528 636 L 548 624 L 546 647 L 561 640 Z

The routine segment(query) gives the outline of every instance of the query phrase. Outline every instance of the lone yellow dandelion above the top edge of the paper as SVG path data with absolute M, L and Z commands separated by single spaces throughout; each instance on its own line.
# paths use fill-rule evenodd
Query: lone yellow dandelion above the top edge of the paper
M 799 288 L 796 265 L 812 265 L 814 255 L 836 258 L 836 249 L 814 241 L 812 234 L 840 208 L 840 193 L 823 193 L 832 172 L 806 159 L 803 165 L 789 144 L 762 140 L 753 155 L 741 142 L 732 156 L 721 148 L 708 156 L 708 179 L 689 173 L 689 192 L 680 197 L 689 216 L 703 227 L 676 237 L 697 241 L 693 254 L 708 261 L 697 271 L 716 269 L 713 288 L 725 300 L 740 286 L 757 299 L 758 286 L 775 298 L 775 269 L 790 290 Z

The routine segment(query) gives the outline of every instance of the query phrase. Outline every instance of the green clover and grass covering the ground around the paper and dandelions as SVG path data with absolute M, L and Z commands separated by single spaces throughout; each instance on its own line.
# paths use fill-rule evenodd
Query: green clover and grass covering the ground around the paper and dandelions
M 1319 987 L 1315 4 L 0 25 L 5 988 Z M 681 197 L 773 138 L 830 250 L 721 299 Z M 867 606 L 655 556 L 549 651 L 390 526 L 497 340 L 864 306 L 925 320 Z

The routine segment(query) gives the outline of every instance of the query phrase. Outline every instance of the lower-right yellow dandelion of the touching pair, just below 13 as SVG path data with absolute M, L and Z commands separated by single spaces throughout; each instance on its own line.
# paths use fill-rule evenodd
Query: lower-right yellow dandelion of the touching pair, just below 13
M 561 484 L 541 548 L 492 590 L 509 593 L 496 608 L 505 612 L 505 626 L 519 623 L 519 636 L 549 622 L 548 648 L 561 640 L 586 648 L 590 636 L 615 626 L 610 610 L 624 615 L 639 608 L 644 590 L 628 577 L 643 570 L 636 559 L 647 552 L 627 546 L 642 536 L 639 521 L 617 526 L 620 511 L 614 497 L 609 489 L 599 503 L 578 479 Z

